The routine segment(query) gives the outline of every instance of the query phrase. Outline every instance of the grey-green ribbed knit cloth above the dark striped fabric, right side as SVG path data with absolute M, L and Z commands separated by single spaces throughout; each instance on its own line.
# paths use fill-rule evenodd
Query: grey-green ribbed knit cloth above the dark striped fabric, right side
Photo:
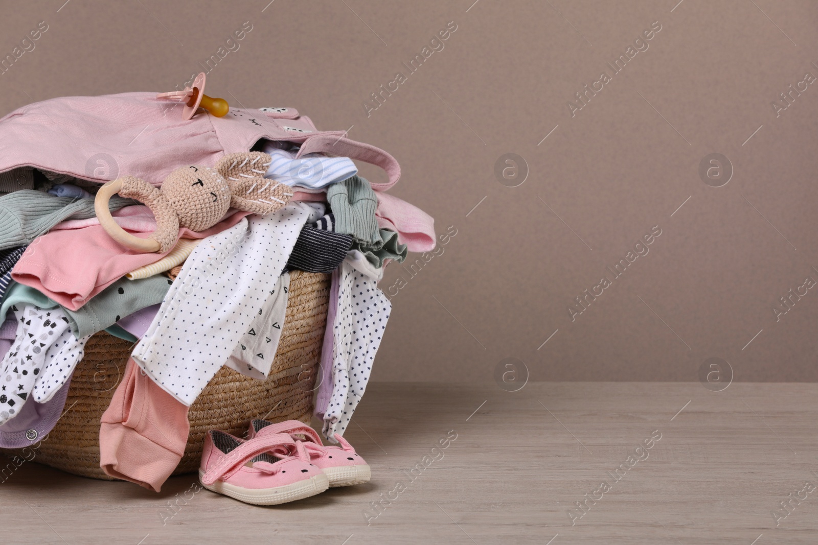
M 335 232 L 350 235 L 365 244 L 380 242 L 375 209 L 378 198 L 375 190 L 361 176 L 352 176 L 330 185 L 326 190 L 326 200 L 335 215 Z

